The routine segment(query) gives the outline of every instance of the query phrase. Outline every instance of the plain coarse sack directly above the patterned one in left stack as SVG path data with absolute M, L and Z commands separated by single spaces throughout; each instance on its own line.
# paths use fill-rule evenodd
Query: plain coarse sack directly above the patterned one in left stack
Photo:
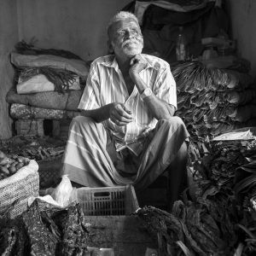
M 83 90 L 67 90 L 64 93 L 45 91 L 34 94 L 17 94 L 14 89 L 9 90 L 6 102 L 20 103 L 38 108 L 78 110 Z

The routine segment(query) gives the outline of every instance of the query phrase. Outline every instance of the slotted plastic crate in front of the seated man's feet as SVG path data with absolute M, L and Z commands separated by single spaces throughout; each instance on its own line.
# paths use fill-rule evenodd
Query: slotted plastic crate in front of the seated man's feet
M 138 208 L 131 185 L 73 189 L 73 200 L 79 201 L 87 216 L 129 215 Z

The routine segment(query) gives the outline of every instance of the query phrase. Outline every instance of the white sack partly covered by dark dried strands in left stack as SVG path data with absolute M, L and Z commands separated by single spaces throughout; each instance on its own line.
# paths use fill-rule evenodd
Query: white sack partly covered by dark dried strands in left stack
M 73 81 L 69 81 L 69 90 L 81 90 L 79 84 L 79 76 L 74 76 Z M 38 74 L 33 76 L 31 79 L 26 81 L 21 81 L 17 84 L 18 94 L 30 94 L 43 91 L 53 91 L 55 90 L 55 84 L 50 82 L 44 74 Z

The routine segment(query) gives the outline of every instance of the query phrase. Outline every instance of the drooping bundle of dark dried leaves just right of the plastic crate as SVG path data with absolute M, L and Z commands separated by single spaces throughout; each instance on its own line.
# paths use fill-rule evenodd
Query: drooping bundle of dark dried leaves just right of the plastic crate
M 221 210 L 214 205 L 176 201 L 172 213 L 143 207 L 137 215 L 149 232 L 159 237 L 162 256 L 230 255 L 236 236 L 229 215 L 221 216 Z

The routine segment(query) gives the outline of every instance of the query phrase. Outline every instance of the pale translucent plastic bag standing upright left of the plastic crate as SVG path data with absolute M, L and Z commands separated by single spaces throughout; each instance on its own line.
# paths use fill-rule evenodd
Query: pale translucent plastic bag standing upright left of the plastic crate
M 61 183 L 56 187 L 51 196 L 61 207 L 67 207 L 72 190 L 72 183 L 66 174 L 62 176 Z

